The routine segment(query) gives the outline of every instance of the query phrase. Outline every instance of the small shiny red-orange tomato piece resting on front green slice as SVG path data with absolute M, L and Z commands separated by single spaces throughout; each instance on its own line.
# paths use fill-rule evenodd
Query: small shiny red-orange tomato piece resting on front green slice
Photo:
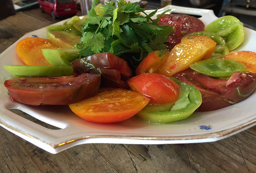
M 150 103 L 172 103 L 178 99 L 180 86 L 172 79 L 157 73 L 144 73 L 127 80 L 133 91 L 140 92 Z

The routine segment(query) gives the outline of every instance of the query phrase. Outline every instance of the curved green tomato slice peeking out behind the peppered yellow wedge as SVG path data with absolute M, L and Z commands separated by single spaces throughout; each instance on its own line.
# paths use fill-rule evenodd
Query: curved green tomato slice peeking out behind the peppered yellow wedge
M 211 38 L 212 40 L 214 40 L 217 43 L 211 58 L 217 58 L 217 56 L 218 56 L 218 58 L 220 58 L 229 53 L 229 49 L 228 49 L 228 46 L 226 45 L 226 41 L 224 40 L 223 37 L 220 37 L 220 35 L 218 35 L 216 33 L 201 31 L 201 32 L 190 33 L 186 36 L 190 37 L 193 35 L 204 35 L 206 37 Z

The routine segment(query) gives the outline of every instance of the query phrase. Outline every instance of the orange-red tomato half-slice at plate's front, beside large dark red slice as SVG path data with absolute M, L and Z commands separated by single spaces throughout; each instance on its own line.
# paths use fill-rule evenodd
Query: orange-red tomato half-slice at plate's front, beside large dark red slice
M 104 89 L 102 92 L 69 108 L 79 117 L 99 123 L 113 123 L 133 117 L 142 110 L 149 99 L 126 89 Z

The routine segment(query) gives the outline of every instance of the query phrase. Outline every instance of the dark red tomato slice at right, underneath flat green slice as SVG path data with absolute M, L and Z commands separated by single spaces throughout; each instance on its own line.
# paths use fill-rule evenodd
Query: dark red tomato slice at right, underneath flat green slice
M 227 79 L 213 79 L 194 70 L 187 69 L 175 74 L 182 82 L 195 86 L 202 95 L 199 111 L 224 108 L 248 98 L 256 89 L 256 74 L 235 72 Z

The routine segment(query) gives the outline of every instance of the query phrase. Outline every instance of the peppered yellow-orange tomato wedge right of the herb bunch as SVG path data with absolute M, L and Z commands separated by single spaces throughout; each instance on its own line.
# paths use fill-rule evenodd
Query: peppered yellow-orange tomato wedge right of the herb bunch
M 211 38 L 203 35 L 184 37 L 176 44 L 171 52 L 164 54 L 165 61 L 161 64 L 158 73 L 172 76 L 177 72 L 189 68 L 190 64 L 211 56 L 216 46 Z

